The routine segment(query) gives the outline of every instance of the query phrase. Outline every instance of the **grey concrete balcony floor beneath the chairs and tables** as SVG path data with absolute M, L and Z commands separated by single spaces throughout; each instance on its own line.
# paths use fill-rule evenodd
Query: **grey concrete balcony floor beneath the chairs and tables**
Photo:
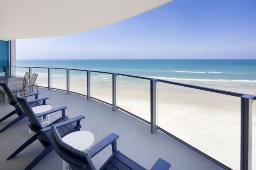
M 81 120 L 81 130 L 87 130 L 94 134 L 94 144 L 112 132 L 118 134 L 117 149 L 146 169 L 150 169 L 159 157 L 172 164 L 170 170 L 221 169 L 160 131 L 154 134 L 150 133 L 149 125 L 122 111 L 112 111 L 109 105 L 93 99 L 87 101 L 84 96 L 66 94 L 64 91 L 48 91 L 45 88 L 40 88 L 39 92 L 39 98 L 49 97 L 47 104 L 51 105 L 52 108 L 62 105 L 67 106 L 66 115 L 70 118 L 80 114 L 84 115 L 85 119 Z M 3 102 L 0 103 L 0 118 L 13 109 L 10 105 L 5 106 Z M 50 120 L 53 121 L 59 116 L 61 116 L 61 112 L 53 113 L 50 116 Z M 15 115 L 1 122 L 0 129 L 16 117 Z M 28 119 L 25 118 L 8 130 L 0 133 L 1 170 L 22 170 L 44 149 L 37 140 L 15 156 L 15 158 L 6 161 L 6 158 L 34 134 L 33 132 L 30 135 L 28 134 L 27 122 Z M 92 160 L 96 168 L 99 169 L 110 155 L 111 147 L 107 147 L 95 156 Z M 52 151 L 34 169 L 61 170 L 62 161 L 57 153 Z

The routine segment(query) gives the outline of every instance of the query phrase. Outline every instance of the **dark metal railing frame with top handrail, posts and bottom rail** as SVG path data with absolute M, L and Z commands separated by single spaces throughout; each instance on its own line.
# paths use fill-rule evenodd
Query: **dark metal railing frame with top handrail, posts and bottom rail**
M 19 67 L 15 66 L 16 68 L 29 68 L 29 70 L 32 70 L 32 68 L 45 68 L 45 67 Z M 241 159 L 241 170 L 251 170 L 251 131 L 252 131 L 252 103 L 254 100 L 256 100 L 256 96 L 253 95 L 248 95 L 248 94 L 242 94 L 242 93 L 236 93 L 232 91 L 224 91 L 220 89 L 214 89 L 214 88 L 207 88 L 207 87 L 201 87 L 197 85 L 189 85 L 185 83 L 180 83 L 180 82 L 172 82 L 168 80 L 163 80 L 163 79 L 155 79 L 155 78 L 150 78 L 150 77 L 140 77 L 140 76 L 134 76 L 134 75 L 128 75 L 128 74 L 119 74 L 119 73 L 111 73 L 111 72 L 105 72 L 105 71 L 92 71 L 92 70 L 84 70 L 84 69 L 73 69 L 73 68 L 47 68 L 48 69 L 48 89 L 51 89 L 51 84 L 50 84 L 50 77 L 51 77 L 51 69 L 62 69 L 62 70 L 67 70 L 67 90 L 63 89 L 57 89 L 61 91 L 67 91 L 67 93 L 74 93 L 74 94 L 79 94 L 73 91 L 70 91 L 70 72 L 72 70 L 75 71 L 87 71 L 87 95 L 79 94 L 82 96 L 87 96 L 87 100 L 89 99 L 95 99 L 97 101 L 103 102 L 105 104 L 111 105 L 113 107 L 113 111 L 118 108 L 121 111 L 124 111 L 125 113 L 130 114 L 131 116 L 136 117 L 137 119 L 142 120 L 143 122 L 147 123 L 148 125 L 151 126 L 151 133 L 154 133 L 155 130 L 160 130 L 163 133 L 169 135 L 172 137 L 172 139 L 175 139 L 177 142 L 183 144 L 184 146 L 188 147 L 189 149 L 195 151 L 199 155 L 203 156 L 204 158 L 208 159 L 212 163 L 218 165 L 219 167 L 225 169 L 225 170 L 231 170 L 230 167 L 227 167 L 225 164 L 222 164 L 221 162 L 215 160 L 214 158 L 208 156 L 206 153 L 203 153 L 202 151 L 196 149 L 195 147 L 191 146 L 190 144 L 184 142 L 182 139 L 177 138 L 176 136 L 172 135 L 168 131 L 162 129 L 161 127 L 158 127 L 156 125 L 156 83 L 157 82 L 163 82 L 167 84 L 172 84 L 172 85 L 177 85 L 177 86 L 182 86 L 186 88 L 193 88 L 193 89 L 198 89 L 202 91 L 209 91 L 213 93 L 218 93 L 218 94 L 224 94 L 224 95 L 229 95 L 229 96 L 236 96 L 241 98 L 241 148 L 240 148 L 240 159 Z M 90 75 L 91 73 L 103 73 L 103 74 L 112 74 L 112 104 L 102 101 L 100 99 L 97 99 L 93 96 L 90 95 Z M 150 80 L 150 105 L 151 105 L 151 121 L 148 122 L 147 120 L 130 113 L 129 111 L 126 111 L 118 106 L 116 106 L 116 76 L 125 76 L 125 77 L 133 77 L 137 79 L 146 79 Z M 56 89 L 56 88 L 52 88 Z

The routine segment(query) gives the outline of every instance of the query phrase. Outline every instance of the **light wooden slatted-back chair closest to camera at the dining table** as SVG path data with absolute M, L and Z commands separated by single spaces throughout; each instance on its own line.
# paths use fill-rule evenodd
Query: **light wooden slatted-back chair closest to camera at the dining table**
M 9 87 L 9 90 L 12 92 L 12 94 L 15 94 L 16 91 L 19 93 L 24 93 L 26 95 L 26 88 L 25 88 L 25 78 L 12 78 L 12 79 L 7 79 L 7 85 Z M 5 94 L 5 105 L 7 105 L 7 94 L 5 93 L 4 90 L 0 91 L 1 94 Z M 0 97 L 0 101 L 2 100 L 2 96 Z

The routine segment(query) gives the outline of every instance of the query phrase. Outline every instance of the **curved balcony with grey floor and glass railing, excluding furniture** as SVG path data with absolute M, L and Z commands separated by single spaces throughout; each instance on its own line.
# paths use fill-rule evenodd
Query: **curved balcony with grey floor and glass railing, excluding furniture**
M 116 133 L 120 136 L 118 150 L 147 169 L 159 157 L 169 161 L 173 170 L 240 169 L 240 162 L 242 166 L 250 163 L 246 155 L 255 154 L 255 147 L 251 149 L 255 146 L 255 139 L 250 135 L 255 128 L 255 116 L 250 116 L 251 110 L 255 112 L 255 103 L 252 104 L 255 96 L 100 71 L 15 69 L 19 73 L 39 74 L 38 85 L 44 87 L 39 88 L 40 97 L 48 96 L 48 105 L 53 108 L 66 105 L 66 114 L 70 118 L 83 114 L 85 119 L 81 121 L 81 130 L 92 132 L 94 143 L 112 132 Z M 175 93 L 177 91 L 186 94 L 187 101 Z M 180 104 L 190 107 L 180 107 Z M 0 108 L 1 113 L 13 110 L 10 105 L 0 105 Z M 50 119 L 54 120 L 60 114 L 54 113 Z M 0 128 L 6 123 L 1 123 Z M 27 119 L 24 119 L 0 134 L 3 169 L 25 168 L 43 150 L 39 142 L 34 142 L 15 158 L 6 161 L 32 136 L 28 134 L 26 124 Z M 108 147 L 93 158 L 96 168 L 101 167 L 110 153 Z M 35 169 L 61 169 L 61 159 L 52 152 Z

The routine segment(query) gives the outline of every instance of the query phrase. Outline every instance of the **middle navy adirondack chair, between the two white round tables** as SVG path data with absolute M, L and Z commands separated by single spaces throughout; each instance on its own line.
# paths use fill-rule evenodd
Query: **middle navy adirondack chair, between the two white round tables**
M 54 113 L 56 111 L 61 111 L 62 113 L 60 118 L 56 119 L 55 121 L 50 123 L 47 127 L 43 128 L 40 122 L 38 121 L 37 116 L 35 116 L 35 113 L 32 111 L 31 106 L 29 105 L 27 100 L 20 96 L 17 96 L 16 100 L 18 103 L 20 103 L 20 105 L 22 106 L 22 108 L 24 109 L 24 111 L 26 112 L 29 118 L 29 128 L 32 131 L 34 131 L 36 134 L 32 136 L 24 144 L 22 144 L 11 156 L 9 156 L 7 160 L 15 157 L 23 149 L 29 146 L 29 144 L 31 144 L 36 139 L 38 139 L 45 149 L 25 168 L 25 170 L 31 170 L 33 167 L 35 167 L 36 164 L 38 164 L 39 161 L 44 159 L 44 157 L 47 156 L 53 150 L 52 144 L 49 140 L 49 131 L 51 130 L 50 125 L 56 124 L 56 127 L 58 128 L 59 133 L 63 137 L 69 133 L 79 131 L 81 128 L 80 121 L 81 119 L 84 119 L 84 116 L 80 115 L 70 119 L 67 116 L 65 116 L 65 109 L 67 108 L 66 106 L 55 108 L 50 111 L 38 114 L 38 116 L 46 116 L 47 114 Z

